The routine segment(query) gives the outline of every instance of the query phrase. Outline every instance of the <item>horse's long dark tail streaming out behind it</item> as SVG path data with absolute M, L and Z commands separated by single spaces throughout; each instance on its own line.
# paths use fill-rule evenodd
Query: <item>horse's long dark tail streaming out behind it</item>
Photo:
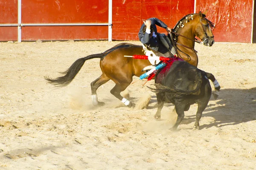
M 55 87 L 64 87 L 70 84 L 72 80 L 76 77 L 76 74 L 81 70 L 84 62 L 88 59 L 93 58 L 103 58 L 102 53 L 100 54 L 92 54 L 87 57 L 77 59 L 66 71 L 60 72 L 63 76 L 57 77 L 56 79 L 51 79 L 49 76 L 45 76 L 44 79 L 47 80 L 48 83 L 55 85 Z

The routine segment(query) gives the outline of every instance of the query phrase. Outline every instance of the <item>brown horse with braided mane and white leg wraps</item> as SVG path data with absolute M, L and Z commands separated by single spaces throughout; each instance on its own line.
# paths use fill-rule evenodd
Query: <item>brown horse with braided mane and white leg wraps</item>
M 199 14 L 189 14 L 183 17 L 176 24 L 172 33 L 175 38 L 174 43 L 177 45 L 179 57 L 185 59 L 190 64 L 197 66 L 198 56 L 194 50 L 195 36 L 203 40 L 204 45 L 212 46 L 214 39 L 211 26 L 213 26 L 212 23 L 207 20 L 205 15 L 201 12 L 199 12 Z M 134 107 L 135 104 L 122 97 L 120 93 L 131 84 L 133 76 L 140 77 L 140 75 L 145 73 L 142 69 L 151 65 L 150 62 L 145 59 L 124 57 L 125 55 L 132 56 L 135 54 L 144 55 L 142 46 L 120 43 L 103 53 L 92 54 L 90 56 L 77 59 L 70 68 L 61 72 L 63 76 L 56 79 L 51 79 L 46 76 L 45 79 L 56 87 L 64 87 L 70 84 L 70 82 L 75 78 L 86 60 L 100 58 L 99 65 L 102 70 L 102 75 L 90 84 L 93 105 L 104 105 L 103 102 L 98 101 L 96 91 L 101 85 L 111 79 L 116 83 L 110 91 L 111 94 L 128 107 Z M 209 74 L 209 79 L 210 76 L 211 74 Z M 213 77 L 211 80 L 215 81 L 215 78 Z

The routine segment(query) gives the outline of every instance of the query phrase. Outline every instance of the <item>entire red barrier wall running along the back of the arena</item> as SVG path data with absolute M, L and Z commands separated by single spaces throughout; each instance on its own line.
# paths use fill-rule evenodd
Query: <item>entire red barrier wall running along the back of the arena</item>
M 0 1 L 0 24 L 17 24 L 17 1 Z M 21 0 L 21 23 L 108 23 L 108 0 Z M 216 42 L 251 42 L 253 0 L 197 0 L 209 10 Z M 112 40 L 138 40 L 143 20 L 158 17 L 173 28 L 194 13 L 194 0 L 113 0 Z M 22 26 L 21 40 L 108 40 L 108 26 Z M 159 32 L 165 33 L 163 28 Z M 0 41 L 17 40 L 17 26 L 0 26 Z

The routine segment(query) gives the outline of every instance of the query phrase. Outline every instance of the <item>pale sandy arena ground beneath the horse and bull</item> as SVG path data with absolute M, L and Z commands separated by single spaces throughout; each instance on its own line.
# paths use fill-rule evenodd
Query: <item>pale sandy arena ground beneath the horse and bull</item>
M 198 68 L 215 75 L 220 96 L 211 97 L 200 130 L 192 129 L 192 105 L 173 132 L 174 105 L 165 104 L 161 121 L 154 120 L 156 96 L 143 81 L 123 95 L 140 102 L 150 94 L 147 108 L 125 107 L 110 94 L 112 81 L 98 89 L 106 105 L 93 107 L 90 82 L 101 75 L 99 59 L 85 62 L 67 87 L 44 80 L 118 43 L 0 43 L 0 170 L 256 169 L 256 44 L 196 44 Z

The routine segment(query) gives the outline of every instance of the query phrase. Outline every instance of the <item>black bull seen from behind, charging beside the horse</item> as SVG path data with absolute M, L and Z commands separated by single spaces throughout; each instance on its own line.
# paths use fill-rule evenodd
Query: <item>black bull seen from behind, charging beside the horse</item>
M 163 70 L 156 75 L 156 89 L 150 88 L 157 95 L 158 108 L 154 117 L 160 119 L 164 102 L 174 104 L 178 117 L 171 129 L 176 130 L 184 118 L 184 111 L 198 103 L 194 128 L 199 129 L 199 120 L 212 93 L 207 74 L 184 61 L 175 61 L 169 70 Z

